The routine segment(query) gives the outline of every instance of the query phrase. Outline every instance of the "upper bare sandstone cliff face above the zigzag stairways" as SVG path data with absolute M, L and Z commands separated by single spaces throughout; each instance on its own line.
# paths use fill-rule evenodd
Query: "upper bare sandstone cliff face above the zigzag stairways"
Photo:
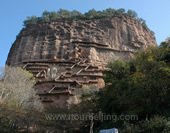
M 96 20 L 59 20 L 29 26 L 14 42 L 8 65 L 23 61 L 69 60 L 88 57 L 92 62 L 106 64 L 111 59 L 127 59 L 136 49 L 155 46 L 153 33 L 137 20 L 115 16 Z M 76 48 L 82 50 L 77 55 Z

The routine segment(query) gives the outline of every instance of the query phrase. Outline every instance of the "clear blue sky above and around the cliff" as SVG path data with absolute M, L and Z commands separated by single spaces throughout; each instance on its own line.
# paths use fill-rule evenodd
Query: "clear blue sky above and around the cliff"
M 0 67 L 5 65 L 10 47 L 23 28 L 27 16 L 67 9 L 82 13 L 90 9 L 124 8 L 138 17 L 155 33 L 157 44 L 170 37 L 170 0 L 0 0 Z

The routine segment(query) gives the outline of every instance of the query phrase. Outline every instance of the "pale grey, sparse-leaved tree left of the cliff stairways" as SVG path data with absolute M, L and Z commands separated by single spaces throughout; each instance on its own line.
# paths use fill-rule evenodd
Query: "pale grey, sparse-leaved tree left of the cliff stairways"
M 15 67 L 6 67 L 0 82 L 0 101 L 22 108 L 42 109 L 34 90 L 35 80 L 29 72 Z

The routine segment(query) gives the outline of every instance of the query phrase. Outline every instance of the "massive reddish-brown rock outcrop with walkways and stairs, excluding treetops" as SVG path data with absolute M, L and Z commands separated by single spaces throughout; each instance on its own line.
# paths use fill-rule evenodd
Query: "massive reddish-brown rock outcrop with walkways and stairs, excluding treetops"
M 37 77 L 36 89 L 44 105 L 62 106 L 75 98 L 76 88 L 104 86 L 102 70 L 108 61 L 126 60 L 136 50 L 155 45 L 153 33 L 128 16 L 61 19 L 22 29 L 6 64 Z

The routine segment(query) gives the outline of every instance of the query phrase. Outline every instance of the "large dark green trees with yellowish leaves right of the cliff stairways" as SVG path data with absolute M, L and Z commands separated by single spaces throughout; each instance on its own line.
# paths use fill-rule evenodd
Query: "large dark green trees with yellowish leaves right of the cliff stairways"
M 128 62 L 108 64 L 104 71 L 106 87 L 98 97 L 103 113 L 137 115 L 139 121 L 153 121 L 154 115 L 170 117 L 169 44 L 167 41 L 137 52 Z

